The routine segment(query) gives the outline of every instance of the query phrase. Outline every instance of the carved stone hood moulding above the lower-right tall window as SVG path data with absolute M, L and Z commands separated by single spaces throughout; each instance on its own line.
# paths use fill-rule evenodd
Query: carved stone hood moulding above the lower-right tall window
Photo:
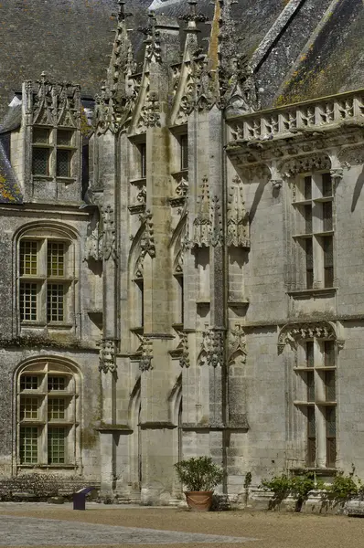
M 305 339 L 337 340 L 334 325 L 329 321 L 316 321 L 310 323 L 291 323 L 284 325 L 278 336 L 278 352 L 282 353 L 288 343 L 294 348 L 297 342 Z M 337 341 L 339 343 L 339 341 Z M 342 343 L 342 342 L 341 342 Z

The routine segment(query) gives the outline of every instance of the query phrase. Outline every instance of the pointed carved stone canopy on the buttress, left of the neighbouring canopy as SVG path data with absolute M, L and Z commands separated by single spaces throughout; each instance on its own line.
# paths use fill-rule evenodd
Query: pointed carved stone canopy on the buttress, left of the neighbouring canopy
M 218 196 L 209 196 L 209 180 L 202 180 L 201 194 L 198 197 L 198 214 L 193 223 L 192 246 L 198 248 L 222 244 L 222 217 Z

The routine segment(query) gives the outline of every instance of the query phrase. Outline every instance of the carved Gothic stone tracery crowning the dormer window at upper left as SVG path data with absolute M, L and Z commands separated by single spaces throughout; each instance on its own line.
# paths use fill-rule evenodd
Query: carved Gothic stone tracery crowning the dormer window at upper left
M 27 121 L 80 129 L 80 86 L 52 83 L 42 72 L 33 85 L 27 82 Z

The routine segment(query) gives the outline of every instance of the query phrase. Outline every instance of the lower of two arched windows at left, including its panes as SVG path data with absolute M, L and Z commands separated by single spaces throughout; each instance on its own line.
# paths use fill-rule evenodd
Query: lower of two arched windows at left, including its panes
M 17 462 L 20 467 L 76 466 L 80 455 L 80 375 L 42 359 L 16 378 Z

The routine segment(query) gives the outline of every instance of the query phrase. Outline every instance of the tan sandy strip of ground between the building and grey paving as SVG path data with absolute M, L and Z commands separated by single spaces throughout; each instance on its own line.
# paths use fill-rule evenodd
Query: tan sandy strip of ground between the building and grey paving
M 101 523 L 111 527 L 149 528 L 165 531 L 199 532 L 259 539 L 244 543 L 178 543 L 166 548 L 364 548 L 364 521 L 346 516 L 323 516 L 273 511 L 225 511 L 193 513 L 168 508 L 115 508 L 89 505 L 86 511 L 73 511 L 70 505 L 0 505 L 1 515 L 53 519 L 65 522 Z M 67 523 L 65 523 L 67 527 Z M 135 548 L 135 544 L 116 544 Z M 110 546 L 116 546 L 110 544 Z M 155 548 L 155 544 L 139 544 Z M 24 547 L 27 543 L 24 544 Z M 63 545 L 64 546 L 64 545 Z M 47 548 L 63 548 L 62 544 Z M 38 548 L 41 548 L 39 546 Z M 80 544 L 77 548 L 81 548 Z M 86 548 L 86 547 L 85 547 Z M 96 548 L 93 546 L 93 548 Z M 105 548 L 105 544 L 100 546 Z

